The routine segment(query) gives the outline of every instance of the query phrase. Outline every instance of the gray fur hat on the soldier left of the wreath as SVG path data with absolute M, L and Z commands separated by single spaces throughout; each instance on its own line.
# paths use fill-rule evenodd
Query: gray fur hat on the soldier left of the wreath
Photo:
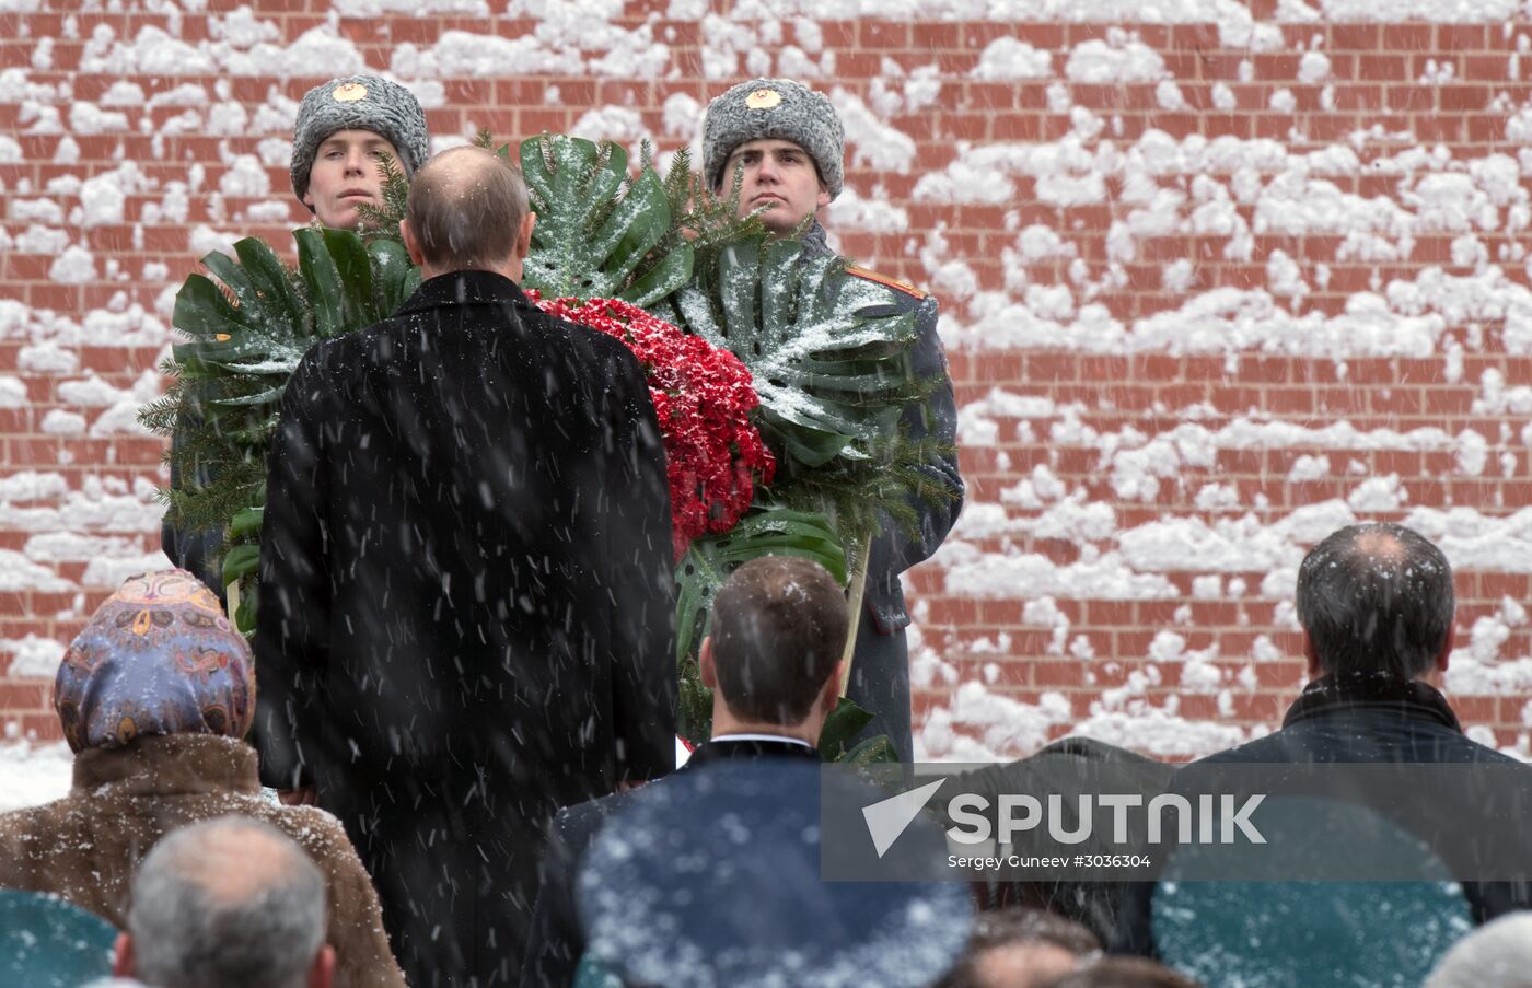
M 348 75 L 303 95 L 293 123 L 293 193 L 303 201 L 320 142 L 337 130 L 371 130 L 389 139 L 404 175 L 415 175 L 430 155 L 426 113 L 415 93 L 375 75 Z

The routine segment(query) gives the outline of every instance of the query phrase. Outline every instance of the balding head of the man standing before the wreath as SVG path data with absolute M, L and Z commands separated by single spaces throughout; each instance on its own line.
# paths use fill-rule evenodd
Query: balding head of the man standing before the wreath
M 453 147 L 415 173 L 398 231 L 427 279 L 493 271 L 519 282 L 536 221 L 519 168 L 483 147 Z

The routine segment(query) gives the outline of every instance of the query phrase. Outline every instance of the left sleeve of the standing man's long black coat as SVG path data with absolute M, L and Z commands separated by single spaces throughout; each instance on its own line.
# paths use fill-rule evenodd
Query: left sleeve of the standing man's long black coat
M 329 665 L 328 450 L 322 404 L 328 395 L 314 352 L 282 395 L 267 460 L 256 622 L 256 737 L 260 780 L 277 789 L 313 781 L 319 683 Z M 332 421 L 332 418 L 331 418 Z M 308 751 L 305 752 L 305 749 Z

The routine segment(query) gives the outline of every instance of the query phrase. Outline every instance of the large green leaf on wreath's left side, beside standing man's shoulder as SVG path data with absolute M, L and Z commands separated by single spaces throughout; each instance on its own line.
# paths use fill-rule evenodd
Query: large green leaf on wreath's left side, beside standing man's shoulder
M 299 360 L 319 340 L 386 319 L 420 286 L 420 270 L 397 240 L 317 227 L 294 230 L 293 239 L 296 268 L 247 237 L 234 257 L 205 256 L 211 277 L 192 274 L 176 294 L 170 322 L 187 340 L 162 366 L 175 383 L 139 421 L 176 437 L 170 460 L 181 484 L 161 498 L 179 528 L 227 530 L 265 502 L 277 403 Z M 234 525 L 231 535 L 245 539 L 231 573 L 248 579 L 259 527 Z

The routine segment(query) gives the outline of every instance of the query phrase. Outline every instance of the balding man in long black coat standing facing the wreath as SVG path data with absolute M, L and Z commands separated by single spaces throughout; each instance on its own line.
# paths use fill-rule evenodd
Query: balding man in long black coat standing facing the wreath
M 519 172 L 446 152 L 406 214 L 420 291 L 283 395 L 262 777 L 345 823 L 412 985 L 484 988 L 519 970 L 555 810 L 674 766 L 669 499 L 637 360 L 516 286 Z

